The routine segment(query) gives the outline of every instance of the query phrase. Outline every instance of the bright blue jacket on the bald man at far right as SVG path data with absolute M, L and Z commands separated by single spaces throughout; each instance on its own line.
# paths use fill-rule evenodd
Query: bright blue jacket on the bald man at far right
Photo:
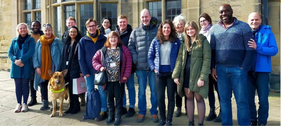
M 278 53 L 278 48 L 271 26 L 260 26 L 259 32 L 255 34 L 256 63 L 255 72 L 271 72 L 271 56 Z

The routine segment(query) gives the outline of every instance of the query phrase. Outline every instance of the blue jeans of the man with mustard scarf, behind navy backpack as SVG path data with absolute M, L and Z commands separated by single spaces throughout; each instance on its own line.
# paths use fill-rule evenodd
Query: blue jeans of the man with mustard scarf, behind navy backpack
M 94 75 L 90 75 L 89 77 L 85 77 L 85 80 L 86 80 L 86 87 L 87 87 L 87 93 L 86 93 L 86 96 L 88 97 L 88 93 L 91 91 L 91 90 L 94 90 L 94 78 L 95 76 Z M 101 88 L 101 85 L 98 85 L 98 89 L 99 89 L 99 93 L 100 93 L 100 96 L 101 96 L 101 111 L 103 112 L 106 112 L 107 111 L 107 103 L 106 103 L 106 93 L 105 93 L 105 90 Z

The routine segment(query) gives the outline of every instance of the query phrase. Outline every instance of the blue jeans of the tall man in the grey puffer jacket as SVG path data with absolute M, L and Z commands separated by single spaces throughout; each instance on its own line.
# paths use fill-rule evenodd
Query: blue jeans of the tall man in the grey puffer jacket
M 157 115 L 157 93 L 155 89 L 155 72 L 151 70 L 136 70 L 136 76 L 138 77 L 139 83 L 139 93 L 138 93 L 138 108 L 139 114 L 146 115 L 146 82 L 148 77 L 148 83 L 150 88 L 150 102 L 151 102 L 151 109 L 149 110 L 151 115 Z

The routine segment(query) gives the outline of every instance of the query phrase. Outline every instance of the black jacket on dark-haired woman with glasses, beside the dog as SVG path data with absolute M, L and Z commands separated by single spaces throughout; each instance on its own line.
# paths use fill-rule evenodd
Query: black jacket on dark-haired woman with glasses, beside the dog
M 68 69 L 67 75 L 65 76 L 66 81 L 69 81 L 69 79 L 80 78 L 80 73 L 82 73 L 78 61 L 78 46 L 80 39 L 81 36 L 78 34 L 72 47 L 70 47 L 70 37 L 62 39 L 62 70 Z

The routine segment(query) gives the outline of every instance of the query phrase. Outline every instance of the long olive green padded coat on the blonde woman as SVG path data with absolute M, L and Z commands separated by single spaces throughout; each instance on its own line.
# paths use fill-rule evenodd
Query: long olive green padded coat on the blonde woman
M 209 73 L 211 66 L 211 47 L 207 38 L 200 34 L 203 47 L 198 46 L 196 43 L 192 44 L 191 52 L 191 67 L 190 67 L 190 86 L 192 92 L 200 94 L 203 98 L 208 97 L 209 88 Z M 175 69 L 172 78 L 179 78 L 180 85 L 177 85 L 177 91 L 181 97 L 185 96 L 183 81 L 184 70 L 187 59 L 187 50 L 185 44 L 180 45 L 180 50 L 175 64 Z M 202 87 L 197 86 L 198 79 L 204 80 Z

